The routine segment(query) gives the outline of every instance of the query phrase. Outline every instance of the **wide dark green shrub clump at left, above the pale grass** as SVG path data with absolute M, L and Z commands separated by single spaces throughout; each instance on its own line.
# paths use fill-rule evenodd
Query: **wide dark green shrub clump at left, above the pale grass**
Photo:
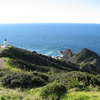
M 9 73 L 3 76 L 1 83 L 2 86 L 8 88 L 32 88 L 44 86 L 46 84 L 45 80 L 41 77 L 22 72 Z

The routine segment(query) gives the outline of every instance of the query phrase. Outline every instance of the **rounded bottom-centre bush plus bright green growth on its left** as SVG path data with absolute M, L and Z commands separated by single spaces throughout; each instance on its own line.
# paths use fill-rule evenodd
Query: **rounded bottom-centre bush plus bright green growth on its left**
M 29 93 L 43 100 L 60 100 L 66 93 L 66 87 L 58 83 L 51 83 L 41 88 L 31 89 Z

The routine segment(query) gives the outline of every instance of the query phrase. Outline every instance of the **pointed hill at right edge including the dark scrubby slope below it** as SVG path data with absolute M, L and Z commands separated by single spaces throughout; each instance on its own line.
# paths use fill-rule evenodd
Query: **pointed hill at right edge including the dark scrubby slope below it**
M 80 65 L 80 71 L 100 74 L 100 57 L 89 49 L 82 49 L 75 54 L 70 61 L 78 63 Z

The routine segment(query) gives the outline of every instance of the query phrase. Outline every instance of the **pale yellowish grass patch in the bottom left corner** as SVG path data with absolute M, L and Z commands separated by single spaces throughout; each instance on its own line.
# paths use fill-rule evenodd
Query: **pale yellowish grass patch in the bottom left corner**
M 0 100 L 39 100 L 20 89 L 7 89 L 0 87 Z

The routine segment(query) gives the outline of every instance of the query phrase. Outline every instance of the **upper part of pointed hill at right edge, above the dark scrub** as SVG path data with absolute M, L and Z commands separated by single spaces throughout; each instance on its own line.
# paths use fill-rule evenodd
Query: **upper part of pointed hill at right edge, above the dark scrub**
M 98 54 L 95 52 L 89 50 L 89 49 L 82 49 L 80 52 L 75 54 L 71 59 L 71 62 L 76 62 L 76 63 L 91 63 L 93 65 L 100 65 L 100 57 Z

